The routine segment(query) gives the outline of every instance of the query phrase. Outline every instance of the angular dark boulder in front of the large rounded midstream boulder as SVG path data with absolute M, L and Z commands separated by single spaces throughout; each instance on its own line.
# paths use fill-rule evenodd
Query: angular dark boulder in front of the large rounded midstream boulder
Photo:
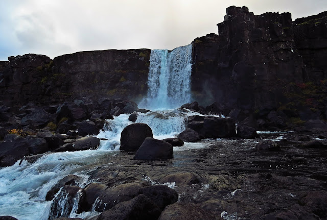
M 134 156 L 136 160 L 166 160 L 170 158 L 173 158 L 172 144 L 152 137 L 144 140 Z

